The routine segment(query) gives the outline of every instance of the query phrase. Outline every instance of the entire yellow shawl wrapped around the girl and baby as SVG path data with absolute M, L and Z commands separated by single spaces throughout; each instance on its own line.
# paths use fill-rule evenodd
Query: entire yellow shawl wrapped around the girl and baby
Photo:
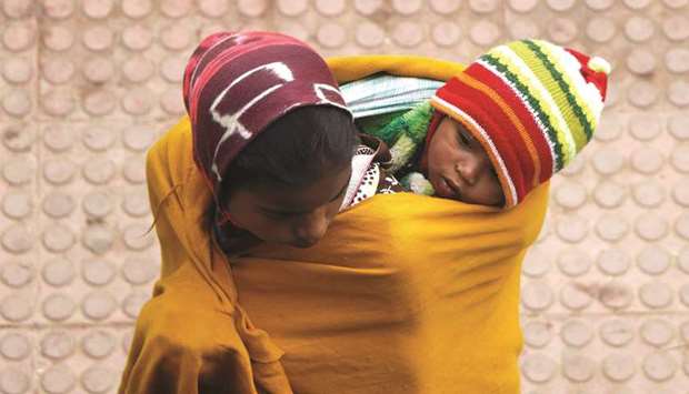
M 380 71 L 447 80 L 462 68 L 411 57 L 329 64 L 340 82 Z M 151 148 L 147 176 L 162 273 L 120 393 L 518 392 L 520 263 L 547 185 L 510 211 L 377 195 L 312 249 L 264 244 L 230 265 L 200 225 L 211 194 L 188 119 Z

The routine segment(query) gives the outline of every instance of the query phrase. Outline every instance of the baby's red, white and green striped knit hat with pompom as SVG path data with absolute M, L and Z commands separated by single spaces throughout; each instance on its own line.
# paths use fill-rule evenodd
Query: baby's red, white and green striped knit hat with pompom
M 431 104 L 481 142 L 511 208 L 591 140 L 609 72 L 601 58 L 540 40 L 515 41 L 469 64 Z

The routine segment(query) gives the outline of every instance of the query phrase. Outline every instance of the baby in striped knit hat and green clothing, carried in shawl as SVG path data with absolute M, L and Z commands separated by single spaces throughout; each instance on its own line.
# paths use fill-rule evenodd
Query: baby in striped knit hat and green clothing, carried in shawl
M 391 171 L 411 191 L 511 208 L 590 141 L 609 72 L 601 58 L 515 41 L 489 50 L 430 100 L 388 114 L 386 124 L 358 123 L 391 145 Z

